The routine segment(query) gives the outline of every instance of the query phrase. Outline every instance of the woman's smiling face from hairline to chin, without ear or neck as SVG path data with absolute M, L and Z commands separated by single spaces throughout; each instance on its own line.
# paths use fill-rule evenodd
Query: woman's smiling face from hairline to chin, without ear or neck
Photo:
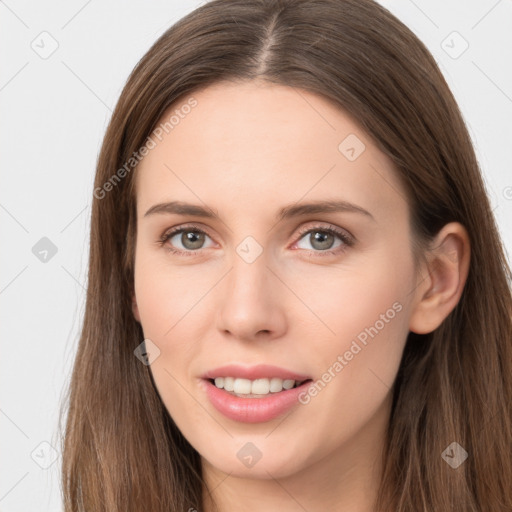
M 169 414 L 235 476 L 376 458 L 417 282 L 390 160 L 291 87 L 217 83 L 173 113 L 137 169 L 134 306 Z

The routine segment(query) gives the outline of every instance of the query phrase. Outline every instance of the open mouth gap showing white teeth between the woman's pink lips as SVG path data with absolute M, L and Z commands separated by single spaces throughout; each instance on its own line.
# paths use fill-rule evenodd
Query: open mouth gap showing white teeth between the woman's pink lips
M 217 389 L 222 389 L 230 395 L 239 398 L 266 398 L 283 391 L 298 388 L 311 381 L 311 379 L 295 380 L 281 379 L 279 377 L 264 377 L 251 380 L 229 376 L 206 380 Z

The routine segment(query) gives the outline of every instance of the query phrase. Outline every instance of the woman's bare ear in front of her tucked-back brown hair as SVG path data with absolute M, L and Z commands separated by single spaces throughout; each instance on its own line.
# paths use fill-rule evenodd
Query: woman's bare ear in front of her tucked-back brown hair
M 409 330 L 434 331 L 460 300 L 469 272 L 470 241 L 464 226 L 446 224 L 432 242 L 415 290 Z

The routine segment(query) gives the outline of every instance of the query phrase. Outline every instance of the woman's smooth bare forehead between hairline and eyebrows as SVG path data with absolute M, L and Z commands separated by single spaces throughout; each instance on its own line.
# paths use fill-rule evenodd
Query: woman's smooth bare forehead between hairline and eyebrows
M 388 157 L 342 109 L 302 89 L 217 83 L 175 103 L 156 130 L 136 172 L 140 212 L 164 200 L 229 215 L 301 199 L 407 210 Z

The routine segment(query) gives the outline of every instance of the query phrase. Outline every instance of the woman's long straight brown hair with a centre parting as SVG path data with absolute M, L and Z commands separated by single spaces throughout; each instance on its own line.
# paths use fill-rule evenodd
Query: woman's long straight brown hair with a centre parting
M 406 342 L 377 510 L 510 512 L 510 267 L 441 72 L 418 38 L 372 0 L 213 0 L 168 29 L 128 78 L 97 163 L 86 309 L 62 447 L 66 512 L 202 509 L 199 454 L 133 353 L 143 332 L 131 310 L 131 159 L 178 100 L 221 80 L 253 79 L 317 93 L 353 116 L 394 162 L 418 240 L 450 221 L 469 233 L 458 305 L 435 331 L 410 333 Z M 453 442 L 468 453 L 456 469 L 442 457 Z

